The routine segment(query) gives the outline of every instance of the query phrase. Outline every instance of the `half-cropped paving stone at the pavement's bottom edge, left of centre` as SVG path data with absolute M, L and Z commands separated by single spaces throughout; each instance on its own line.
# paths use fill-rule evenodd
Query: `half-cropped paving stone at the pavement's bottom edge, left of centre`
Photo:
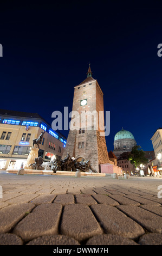
M 80 243 L 72 237 L 66 235 L 48 235 L 37 237 L 31 240 L 27 245 L 80 245 Z

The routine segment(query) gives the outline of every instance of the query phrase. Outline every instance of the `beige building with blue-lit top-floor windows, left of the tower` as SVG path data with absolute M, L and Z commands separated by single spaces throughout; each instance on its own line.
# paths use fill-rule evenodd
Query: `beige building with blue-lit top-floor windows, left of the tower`
M 33 140 L 45 131 L 38 151 L 43 161 L 62 157 L 66 137 L 53 131 L 40 115 L 0 109 L 0 169 L 20 168 L 27 161 Z

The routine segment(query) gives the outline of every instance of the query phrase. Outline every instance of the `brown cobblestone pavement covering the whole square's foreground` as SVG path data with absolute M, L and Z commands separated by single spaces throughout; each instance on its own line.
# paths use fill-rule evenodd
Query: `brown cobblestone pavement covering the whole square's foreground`
M 0 185 L 0 245 L 162 245 L 162 178 L 1 172 Z

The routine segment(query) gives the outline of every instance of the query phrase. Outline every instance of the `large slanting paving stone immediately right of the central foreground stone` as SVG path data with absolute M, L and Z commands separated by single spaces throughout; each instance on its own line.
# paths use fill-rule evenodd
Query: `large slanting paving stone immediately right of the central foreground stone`
M 128 218 L 113 206 L 98 204 L 92 205 L 90 208 L 107 234 L 111 233 L 135 239 L 145 233 L 144 229 L 138 223 Z

